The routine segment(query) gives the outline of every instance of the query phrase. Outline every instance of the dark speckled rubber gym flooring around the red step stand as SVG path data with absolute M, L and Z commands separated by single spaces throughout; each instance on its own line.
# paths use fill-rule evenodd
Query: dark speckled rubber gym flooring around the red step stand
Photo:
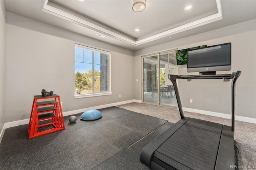
M 102 119 L 80 121 L 79 113 L 70 124 L 69 116 L 64 117 L 65 130 L 32 139 L 28 125 L 7 128 L 0 144 L 0 169 L 147 170 L 140 163 L 140 151 L 172 123 L 118 107 L 99 111 Z

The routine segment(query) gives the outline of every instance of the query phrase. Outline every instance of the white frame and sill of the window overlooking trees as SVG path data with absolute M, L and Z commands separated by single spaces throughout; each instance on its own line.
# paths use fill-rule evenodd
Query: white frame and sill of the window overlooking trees
M 95 97 L 95 96 L 112 95 L 112 92 L 111 92 L 111 52 L 75 43 L 74 49 L 76 47 L 81 47 L 81 48 L 89 49 L 89 50 L 92 50 L 92 51 L 102 52 L 102 53 L 106 53 L 106 54 L 109 55 L 109 57 L 108 57 L 108 91 L 86 93 L 86 94 L 74 94 L 74 98 L 75 99 L 79 99 L 79 98 L 84 98 L 84 97 Z M 76 60 L 75 60 L 76 56 L 75 55 L 76 55 L 76 50 L 74 50 L 74 66 L 76 64 Z M 92 61 L 92 69 L 93 69 L 93 72 L 94 72 L 94 64 L 93 63 L 94 63 L 94 61 Z M 76 67 L 74 67 L 74 73 L 76 73 L 75 70 L 76 70 Z M 92 79 L 94 79 L 94 78 L 92 77 Z M 74 88 L 75 88 L 75 84 L 74 84 Z

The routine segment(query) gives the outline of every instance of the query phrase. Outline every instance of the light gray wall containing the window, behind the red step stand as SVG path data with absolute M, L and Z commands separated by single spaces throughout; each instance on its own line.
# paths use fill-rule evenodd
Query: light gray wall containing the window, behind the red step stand
M 111 51 L 112 95 L 74 99 L 75 43 Z M 29 119 L 42 89 L 60 95 L 63 112 L 132 100 L 133 62 L 133 51 L 7 12 L 6 122 Z

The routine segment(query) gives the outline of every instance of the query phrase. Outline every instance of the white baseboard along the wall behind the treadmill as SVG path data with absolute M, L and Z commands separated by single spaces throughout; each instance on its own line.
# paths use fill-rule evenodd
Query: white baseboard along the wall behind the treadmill
M 200 114 L 203 114 L 203 115 L 210 115 L 210 116 L 222 117 L 222 118 L 225 118 L 225 119 L 231 119 L 231 115 L 224 114 L 224 113 L 203 111 L 203 110 L 198 110 L 198 109 L 190 109 L 190 108 L 186 108 L 186 107 L 182 107 L 182 110 L 183 111 L 188 111 L 188 112 L 193 112 L 193 113 L 200 113 Z M 256 124 L 256 119 L 250 118 L 250 117 L 242 117 L 242 116 L 236 116 L 235 115 L 235 120 Z

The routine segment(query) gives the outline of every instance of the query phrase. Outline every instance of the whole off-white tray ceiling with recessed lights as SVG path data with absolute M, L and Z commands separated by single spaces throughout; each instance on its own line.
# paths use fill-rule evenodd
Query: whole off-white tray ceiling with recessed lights
M 132 0 L 5 0 L 4 4 L 8 12 L 132 51 L 256 18 L 256 0 L 147 0 L 142 12 L 132 10 Z M 193 8 L 185 11 L 187 5 Z

